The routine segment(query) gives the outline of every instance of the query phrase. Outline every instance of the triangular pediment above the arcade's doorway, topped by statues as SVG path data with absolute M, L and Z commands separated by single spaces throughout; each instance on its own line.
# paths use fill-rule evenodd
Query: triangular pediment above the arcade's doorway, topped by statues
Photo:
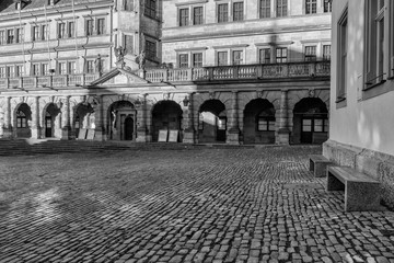
M 140 78 L 138 72 L 131 72 L 121 68 L 114 68 L 104 73 L 99 79 L 91 82 L 91 85 L 116 85 L 116 84 L 138 84 L 148 83 L 147 80 Z

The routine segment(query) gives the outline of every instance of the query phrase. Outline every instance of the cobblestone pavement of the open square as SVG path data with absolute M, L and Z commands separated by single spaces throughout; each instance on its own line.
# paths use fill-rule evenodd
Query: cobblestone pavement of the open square
M 394 262 L 394 213 L 344 213 L 317 152 L 2 157 L 0 262 Z

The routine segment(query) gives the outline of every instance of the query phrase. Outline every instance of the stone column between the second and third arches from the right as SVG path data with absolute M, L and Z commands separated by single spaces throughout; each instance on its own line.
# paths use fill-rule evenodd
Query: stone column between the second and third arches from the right
M 229 121 L 227 132 L 227 144 L 239 145 L 240 144 L 240 125 L 239 125 L 239 108 L 237 108 L 237 91 L 232 92 L 231 108 L 229 108 Z

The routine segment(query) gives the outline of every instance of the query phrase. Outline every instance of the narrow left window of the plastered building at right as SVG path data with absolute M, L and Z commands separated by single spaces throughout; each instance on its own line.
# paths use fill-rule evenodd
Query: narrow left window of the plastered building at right
M 347 10 L 338 22 L 338 67 L 337 67 L 337 102 L 346 98 L 347 48 L 348 48 Z

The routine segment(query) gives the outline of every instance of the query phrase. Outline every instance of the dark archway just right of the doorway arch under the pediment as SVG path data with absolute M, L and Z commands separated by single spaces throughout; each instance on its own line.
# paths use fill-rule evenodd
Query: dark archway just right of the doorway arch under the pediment
M 182 113 L 179 104 L 174 101 L 158 102 L 152 111 L 152 140 L 158 141 L 161 129 L 181 132 Z

